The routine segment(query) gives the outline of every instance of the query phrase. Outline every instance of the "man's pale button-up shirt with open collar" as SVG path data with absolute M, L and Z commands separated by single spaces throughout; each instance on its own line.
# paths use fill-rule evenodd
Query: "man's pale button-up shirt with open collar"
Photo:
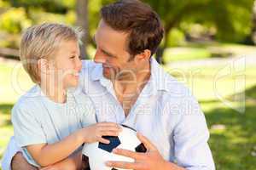
M 155 59 L 151 59 L 151 77 L 126 117 L 112 82 L 102 75 L 102 65 L 83 62 L 79 89 L 93 101 L 98 122 L 117 122 L 137 129 L 167 161 L 188 170 L 215 169 L 207 144 L 207 123 L 198 102 Z M 9 169 L 16 151 L 19 148 L 10 142 L 3 170 Z

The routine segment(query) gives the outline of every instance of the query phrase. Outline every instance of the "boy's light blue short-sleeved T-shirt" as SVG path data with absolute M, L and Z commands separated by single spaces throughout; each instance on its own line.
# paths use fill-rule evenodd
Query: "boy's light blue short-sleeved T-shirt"
M 55 103 L 34 86 L 12 110 L 15 141 L 26 160 L 40 167 L 26 150 L 27 145 L 54 144 L 69 134 L 96 123 L 95 109 L 85 94 L 67 91 L 65 104 Z

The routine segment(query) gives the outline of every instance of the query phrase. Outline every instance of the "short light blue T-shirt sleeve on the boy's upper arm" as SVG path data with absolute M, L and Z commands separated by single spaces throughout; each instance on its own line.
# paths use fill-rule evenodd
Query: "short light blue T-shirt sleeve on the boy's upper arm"
M 30 108 L 26 108 L 26 105 L 15 105 L 12 110 L 15 141 L 20 147 L 46 143 L 43 128 L 36 118 L 37 113 L 32 110 L 32 105 Z

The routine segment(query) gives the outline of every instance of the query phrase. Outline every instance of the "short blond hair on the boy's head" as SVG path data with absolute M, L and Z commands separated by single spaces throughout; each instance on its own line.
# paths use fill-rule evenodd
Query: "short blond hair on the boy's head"
M 28 75 L 35 83 L 40 82 L 38 59 L 49 59 L 63 41 L 77 41 L 83 35 L 80 28 L 56 23 L 44 23 L 29 27 L 20 42 L 20 60 Z

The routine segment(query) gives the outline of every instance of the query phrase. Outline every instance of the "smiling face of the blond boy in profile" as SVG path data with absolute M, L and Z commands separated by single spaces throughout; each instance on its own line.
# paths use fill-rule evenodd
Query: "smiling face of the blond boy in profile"
M 61 42 L 54 58 L 55 77 L 62 87 L 72 88 L 79 84 L 79 71 L 82 63 L 79 59 L 79 43 L 76 41 Z

